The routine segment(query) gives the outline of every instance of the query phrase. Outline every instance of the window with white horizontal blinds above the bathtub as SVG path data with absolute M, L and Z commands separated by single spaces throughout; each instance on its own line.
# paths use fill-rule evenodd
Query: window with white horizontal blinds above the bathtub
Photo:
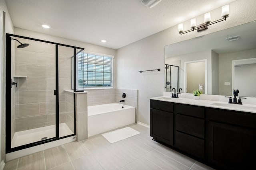
M 80 53 L 78 83 L 86 87 L 112 87 L 112 57 Z

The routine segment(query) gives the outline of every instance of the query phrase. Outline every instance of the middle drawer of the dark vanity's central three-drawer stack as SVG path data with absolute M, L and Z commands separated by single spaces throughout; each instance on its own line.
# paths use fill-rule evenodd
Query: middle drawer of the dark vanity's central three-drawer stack
M 204 139 L 204 119 L 176 114 L 176 130 Z

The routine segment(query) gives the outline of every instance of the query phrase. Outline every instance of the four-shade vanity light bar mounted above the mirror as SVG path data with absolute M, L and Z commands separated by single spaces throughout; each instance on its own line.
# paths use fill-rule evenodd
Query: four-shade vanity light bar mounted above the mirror
M 221 12 L 222 18 L 221 19 L 211 22 L 211 13 L 208 12 L 208 13 L 204 14 L 204 23 L 196 26 L 196 18 L 193 18 L 192 20 L 190 20 L 190 28 L 191 29 L 184 31 L 183 23 L 180 23 L 178 25 L 178 31 L 179 31 L 180 35 L 194 31 L 194 30 L 197 30 L 199 32 L 199 31 L 207 29 L 209 25 L 218 23 L 220 21 L 226 21 L 228 16 L 229 16 L 229 5 L 224 5 L 224 6 L 222 6 L 222 12 Z

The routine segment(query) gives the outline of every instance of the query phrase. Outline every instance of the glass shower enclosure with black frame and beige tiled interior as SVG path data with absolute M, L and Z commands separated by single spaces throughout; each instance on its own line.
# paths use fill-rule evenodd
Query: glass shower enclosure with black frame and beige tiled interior
M 83 51 L 6 34 L 7 153 L 76 135 L 74 95 L 65 90 L 81 91 L 72 78 Z

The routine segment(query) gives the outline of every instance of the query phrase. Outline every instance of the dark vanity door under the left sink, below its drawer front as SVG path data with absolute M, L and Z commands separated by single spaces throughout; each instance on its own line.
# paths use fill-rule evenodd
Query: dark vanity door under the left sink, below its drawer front
M 150 136 L 156 141 L 173 145 L 173 113 L 150 109 Z

